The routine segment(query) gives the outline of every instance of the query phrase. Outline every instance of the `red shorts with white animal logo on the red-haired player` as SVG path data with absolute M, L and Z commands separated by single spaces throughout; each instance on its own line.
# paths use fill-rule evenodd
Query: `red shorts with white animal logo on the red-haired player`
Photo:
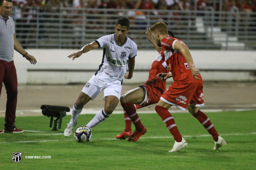
M 188 104 L 204 106 L 203 85 L 199 83 L 177 84 L 171 86 L 161 96 L 161 100 L 186 110 Z

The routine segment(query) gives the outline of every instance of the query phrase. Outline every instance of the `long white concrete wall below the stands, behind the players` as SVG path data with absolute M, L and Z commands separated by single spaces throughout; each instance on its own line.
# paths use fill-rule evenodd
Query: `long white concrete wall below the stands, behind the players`
M 103 54 L 102 49 L 92 50 L 72 61 L 67 56 L 76 52 L 76 49 L 27 49 L 27 52 L 36 57 L 36 65 L 30 64 L 18 52 L 14 53 L 18 83 L 22 84 L 86 83 L 99 68 Z M 256 51 L 191 50 L 191 54 L 196 67 L 202 69 L 201 75 L 204 81 L 256 80 Z M 124 83 L 145 82 L 156 55 L 155 50 L 139 50 L 135 59 L 133 78 L 125 79 Z M 254 75 L 246 70 L 255 70 Z

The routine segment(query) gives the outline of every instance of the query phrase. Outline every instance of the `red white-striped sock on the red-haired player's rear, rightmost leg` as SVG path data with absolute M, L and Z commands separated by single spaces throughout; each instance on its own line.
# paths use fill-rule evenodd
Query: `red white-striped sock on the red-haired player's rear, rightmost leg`
M 215 142 L 218 141 L 218 132 L 215 130 L 212 122 L 208 118 L 207 115 L 204 114 L 204 112 L 201 112 L 201 110 L 198 110 L 198 112 L 193 115 L 203 126 L 204 128 L 212 135 Z

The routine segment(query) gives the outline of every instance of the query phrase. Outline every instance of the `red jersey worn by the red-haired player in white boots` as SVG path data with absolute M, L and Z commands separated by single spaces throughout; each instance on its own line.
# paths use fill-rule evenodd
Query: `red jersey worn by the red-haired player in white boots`
M 200 80 L 197 80 L 196 78 L 194 78 L 189 69 L 189 66 L 185 57 L 181 54 L 179 50 L 173 49 L 174 43 L 176 41 L 179 41 L 184 44 L 184 42 L 173 37 L 165 37 L 161 41 L 165 60 L 167 65 L 170 65 L 171 67 L 172 78 L 174 82 L 179 84 L 186 84 L 186 83 L 203 84 L 203 79 L 200 73 L 199 73 L 199 76 L 197 76 L 198 78 L 200 78 Z

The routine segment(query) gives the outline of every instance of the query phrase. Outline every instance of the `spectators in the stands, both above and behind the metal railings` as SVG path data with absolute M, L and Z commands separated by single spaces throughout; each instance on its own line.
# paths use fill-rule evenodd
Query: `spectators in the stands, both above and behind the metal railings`
M 220 1 L 222 1 L 222 7 L 220 9 Z M 196 4 L 195 4 L 196 3 Z M 215 3 L 215 4 L 214 4 Z M 86 16 L 86 23 L 83 23 L 84 11 L 82 9 L 128 9 L 126 13 L 130 18 L 135 19 L 135 24 L 137 29 L 141 33 L 145 32 L 147 25 L 147 12 L 143 10 L 151 10 L 150 14 L 162 16 L 161 18 L 156 18 L 156 20 L 167 21 L 169 25 L 177 26 L 176 34 L 180 34 L 182 29 L 188 29 L 188 22 L 172 22 L 172 20 L 186 20 L 188 15 L 186 12 L 178 11 L 187 11 L 187 10 L 207 10 L 207 7 L 213 6 L 216 8 L 216 11 L 244 11 L 244 12 L 256 12 L 256 0 L 13 0 L 13 11 L 12 16 L 15 18 L 17 38 L 21 38 L 21 43 L 24 45 L 28 42 L 29 36 L 32 36 L 32 33 L 36 34 L 36 23 L 38 23 L 39 16 L 39 36 L 38 38 L 51 38 L 48 35 L 45 36 L 45 31 L 43 28 L 54 28 L 59 25 L 54 24 L 59 23 L 60 16 L 62 18 L 67 18 L 63 21 L 62 28 L 73 29 L 74 42 L 77 45 L 81 44 L 81 35 L 83 35 L 84 26 L 86 24 L 86 29 L 102 29 L 100 25 L 103 21 L 94 21 L 94 18 L 100 19 L 99 16 L 95 17 L 94 15 Z M 31 8 L 37 7 L 37 8 Z M 66 8 L 63 10 L 63 8 Z M 72 9 L 72 10 L 71 10 Z M 142 11 L 140 11 L 142 10 Z M 157 11 L 157 10 L 166 10 L 166 11 Z M 40 14 L 40 12 L 47 12 L 46 14 Z M 55 13 L 53 13 L 55 12 Z M 56 13 L 57 12 L 57 13 Z M 57 15 L 58 12 L 61 15 Z M 52 13 L 49 14 L 49 13 Z M 103 11 L 100 10 L 87 10 L 85 13 L 89 14 L 102 14 Z M 122 11 L 108 11 L 108 14 L 118 14 L 117 16 L 123 16 Z M 169 18 L 168 18 L 169 17 Z M 53 21 L 51 19 L 45 20 L 40 18 L 55 18 Z M 171 18 L 171 21 L 170 21 Z M 91 20 L 90 20 L 91 19 Z M 109 18 L 108 18 L 109 19 Z M 117 18 L 110 18 L 116 20 Z M 66 22 L 66 23 L 65 23 Z M 26 23 L 26 24 L 25 24 Z M 46 24 L 48 23 L 48 25 Z M 50 23 L 50 26 L 49 26 Z M 70 27 L 70 24 L 73 25 Z M 33 25 L 34 24 L 34 25 Z M 65 26 L 65 24 L 69 24 Z M 107 23 L 115 24 L 115 23 Z M 90 26 L 88 26 L 90 25 Z M 67 30 L 68 30 L 67 29 Z M 65 29 L 63 29 L 65 30 Z M 139 32 L 140 32 L 139 31 Z M 65 31 L 62 31 L 65 34 Z M 67 32 L 66 34 L 69 34 Z M 83 36 L 82 36 L 83 37 Z M 33 39 L 34 37 L 31 37 Z M 65 38 L 65 37 L 63 37 Z M 25 47 L 26 48 L 26 47 Z

